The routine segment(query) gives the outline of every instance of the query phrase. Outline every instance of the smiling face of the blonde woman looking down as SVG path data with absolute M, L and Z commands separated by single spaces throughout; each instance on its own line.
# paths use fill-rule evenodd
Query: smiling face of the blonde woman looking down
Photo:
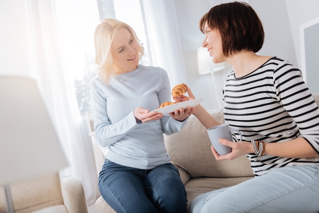
M 111 48 L 113 62 L 124 73 L 137 69 L 139 64 L 138 43 L 126 28 L 119 28 L 115 33 Z

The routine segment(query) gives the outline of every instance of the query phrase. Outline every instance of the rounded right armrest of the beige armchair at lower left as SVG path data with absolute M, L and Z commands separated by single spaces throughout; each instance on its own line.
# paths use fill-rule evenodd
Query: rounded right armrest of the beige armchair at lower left
M 88 213 L 88 205 L 81 179 L 75 176 L 61 178 L 63 202 L 69 213 Z

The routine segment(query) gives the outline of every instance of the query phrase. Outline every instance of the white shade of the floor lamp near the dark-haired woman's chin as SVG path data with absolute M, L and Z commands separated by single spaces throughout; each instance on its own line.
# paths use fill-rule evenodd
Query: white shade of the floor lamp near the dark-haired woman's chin
M 197 49 L 197 62 L 198 62 L 198 73 L 208 74 L 225 69 L 225 63 L 215 64 L 212 62 L 212 58 L 209 56 L 207 48 L 199 47 Z

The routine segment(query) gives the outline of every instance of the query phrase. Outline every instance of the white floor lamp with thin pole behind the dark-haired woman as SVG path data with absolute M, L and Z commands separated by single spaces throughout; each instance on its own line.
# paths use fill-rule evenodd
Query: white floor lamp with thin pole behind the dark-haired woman
M 219 95 L 218 95 L 218 90 L 216 87 L 216 81 L 215 81 L 215 75 L 214 73 L 221 71 L 225 69 L 226 64 L 225 62 L 223 63 L 218 63 L 215 64 L 212 62 L 212 58 L 209 56 L 209 52 L 207 51 L 207 48 L 204 47 L 199 47 L 197 49 L 197 62 L 198 62 L 198 73 L 201 75 L 204 74 L 211 74 L 212 77 L 212 83 L 214 84 L 214 90 L 217 98 L 217 103 L 218 107 L 221 107 L 220 100 L 219 100 Z

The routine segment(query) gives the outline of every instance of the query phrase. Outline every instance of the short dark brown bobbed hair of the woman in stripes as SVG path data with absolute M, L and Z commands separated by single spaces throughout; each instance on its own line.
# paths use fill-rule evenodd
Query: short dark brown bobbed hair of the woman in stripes
M 247 3 L 232 2 L 212 7 L 199 22 L 202 33 L 205 33 L 206 22 L 211 30 L 221 34 L 226 57 L 243 49 L 258 52 L 263 45 L 262 23 Z

